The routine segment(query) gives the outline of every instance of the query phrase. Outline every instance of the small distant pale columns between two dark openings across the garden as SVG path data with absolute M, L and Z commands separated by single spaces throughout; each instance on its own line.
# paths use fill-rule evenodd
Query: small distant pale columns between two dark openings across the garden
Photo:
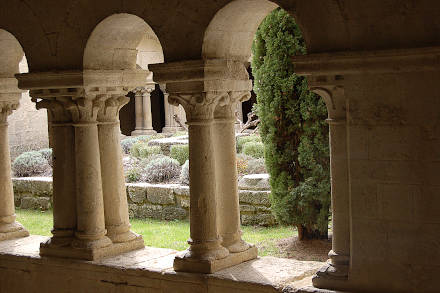
M 150 135 L 155 134 L 153 129 L 153 118 L 151 115 L 151 92 L 154 91 L 154 85 L 137 87 L 133 90 L 135 93 L 136 107 L 136 129 L 131 135 Z

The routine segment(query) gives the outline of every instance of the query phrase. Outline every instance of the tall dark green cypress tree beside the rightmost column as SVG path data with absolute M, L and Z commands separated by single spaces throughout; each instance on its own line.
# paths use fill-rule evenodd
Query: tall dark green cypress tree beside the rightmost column
M 294 19 L 275 9 L 261 23 L 252 52 L 272 210 L 281 223 L 298 226 L 300 238 L 326 237 L 330 208 L 327 109 L 308 90 L 306 79 L 294 73 L 291 57 L 306 52 Z

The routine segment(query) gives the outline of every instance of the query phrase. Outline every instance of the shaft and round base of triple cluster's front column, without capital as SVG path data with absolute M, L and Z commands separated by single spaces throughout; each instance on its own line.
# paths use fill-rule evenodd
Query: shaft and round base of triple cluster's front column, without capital
M 111 241 L 105 236 L 98 127 L 94 122 L 74 126 L 78 221 L 74 246 L 105 247 Z

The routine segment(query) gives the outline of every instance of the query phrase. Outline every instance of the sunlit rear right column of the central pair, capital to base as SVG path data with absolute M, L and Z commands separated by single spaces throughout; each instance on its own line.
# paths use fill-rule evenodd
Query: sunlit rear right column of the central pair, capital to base
M 222 245 L 231 253 L 251 248 L 241 239 L 235 146 L 235 110 L 238 104 L 249 98 L 250 92 L 230 92 L 228 98 L 217 106 L 214 114 L 219 231 Z

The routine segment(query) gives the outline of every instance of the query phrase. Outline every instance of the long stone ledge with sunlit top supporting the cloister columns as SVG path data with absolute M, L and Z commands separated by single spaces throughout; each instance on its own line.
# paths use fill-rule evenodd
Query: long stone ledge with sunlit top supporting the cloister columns
M 177 273 L 177 251 L 145 247 L 100 261 L 40 257 L 40 242 L 32 235 L 0 242 L 0 292 L 319 292 L 298 291 L 292 282 L 311 276 L 321 262 L 261 257 L 214 274 Z M 287 286 L 288 285 L 288 286 Z M 310 286 L 306 283 L 303 287 Z M 283 289 L 297 291 L 283 291 Z M 63 288 L 64 291 L 62 290 Z M 134 290 L 135 289 L 135 290 Z M 293 290 L 292 289 L 292 290 Z M 133 291 L 134 290 L 134 291 Z M 335 292 L 331 292 L 335 293 Z

